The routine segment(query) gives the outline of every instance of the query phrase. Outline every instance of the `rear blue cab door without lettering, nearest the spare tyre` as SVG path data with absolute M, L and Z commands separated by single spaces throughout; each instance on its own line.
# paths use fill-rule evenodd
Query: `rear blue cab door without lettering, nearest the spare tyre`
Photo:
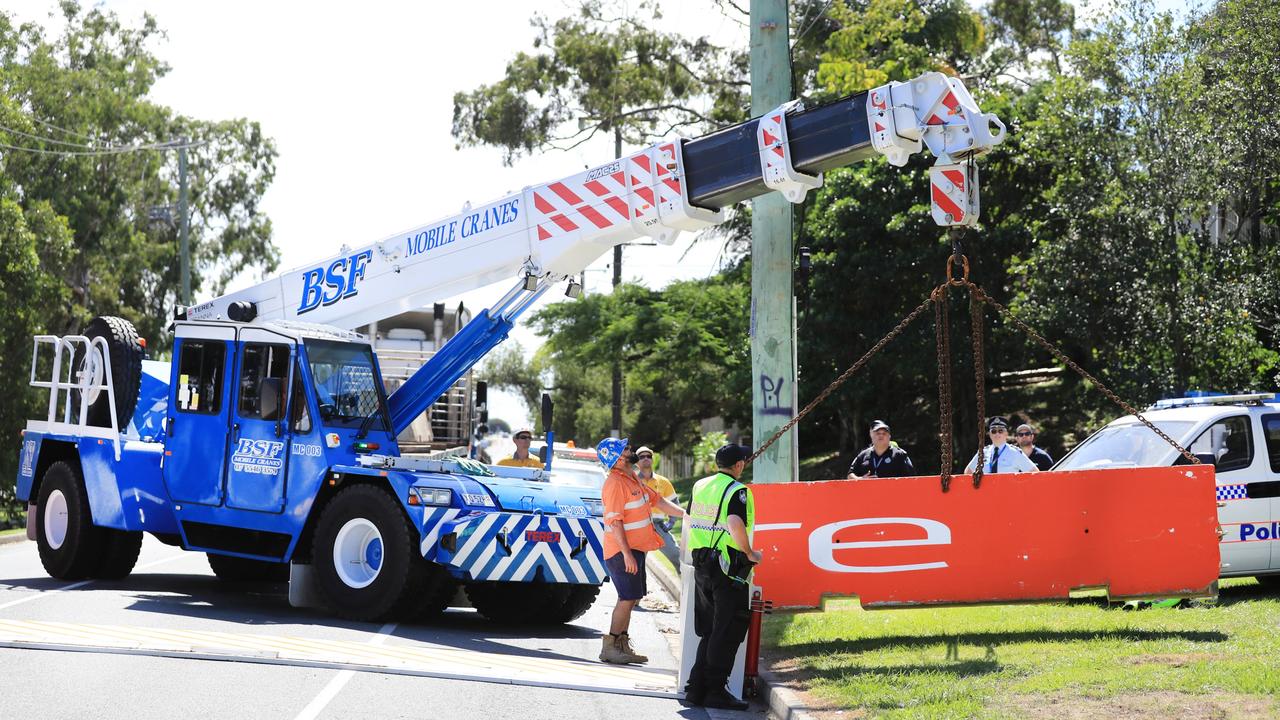
M 165 415 L 164 482 L 175 502 L 221 505 L 236 329 L 182 324 Z

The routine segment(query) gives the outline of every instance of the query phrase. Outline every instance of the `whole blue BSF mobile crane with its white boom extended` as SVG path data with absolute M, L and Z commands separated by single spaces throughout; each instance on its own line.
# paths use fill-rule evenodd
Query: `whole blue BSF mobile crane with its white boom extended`
M 972 159 L 1004 135 L 959 79 L 928 73 L 659 142 L 179 307 L 172 363 L 145 360 L 120 318 L 37 336 L 31 384 L 49 405 L 22 441 L 28 536 L 60 579 L 128 575 L 151 533 L 206 552 L 219 578 L 288 577 L 292 602 L 346 618 L 438 612 L 462 585 L 492 619 L 570 621 L 605 578 L 600 500 L 543 470 L 402 456 L 399 432 L 617 243 L 671 243 L 771 191 L 800 202 L 823 170 L 902 165 L 925 145 L 934 219 L 972 225 Z M 515 287 L 389 397 L 369 338 L 344 329 L 503 279 Z

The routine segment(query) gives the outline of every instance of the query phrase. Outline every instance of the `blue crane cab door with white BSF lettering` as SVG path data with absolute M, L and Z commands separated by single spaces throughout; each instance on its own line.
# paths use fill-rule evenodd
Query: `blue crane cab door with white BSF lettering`
M 227 443 L 227 507 L 282 512 L 289 460 L 289 387 L 297 345 L 265 328 L 241 328 Z

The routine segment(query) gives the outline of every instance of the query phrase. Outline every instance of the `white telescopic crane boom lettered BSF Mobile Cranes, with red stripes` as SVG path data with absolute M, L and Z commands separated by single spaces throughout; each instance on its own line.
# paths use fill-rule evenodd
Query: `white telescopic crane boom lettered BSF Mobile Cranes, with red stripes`
M 503 279 L 567 278 L 614 245 L 724 219 L 769 191 L 799 202 L 822 172 L 878 155 L 896 165 L 927 145 L 934 219 L 977 220 L 977 169 L 964 160 L 1004 138 L 964 85 L 941 73 L 745 123 L 632 155 L 411 228 L 260 284 L 179 310 L 192 320 L 253 318 L 356 328 Z

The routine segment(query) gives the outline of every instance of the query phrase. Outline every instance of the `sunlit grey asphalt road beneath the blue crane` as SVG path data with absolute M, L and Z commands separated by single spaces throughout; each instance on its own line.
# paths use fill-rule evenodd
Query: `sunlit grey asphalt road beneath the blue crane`
M 668 635 L 675 603 L 650 579 L 632 619 L 636 650 L 652 667 L 675 669 Z M 500 628 L 471 610 L 449 610 L 429 624 L 351 623 L 289 607 L 283 584 L 233 584 L 214 578 L 202 553 L 151 538 L 122 582 L 64 583 L 49 578 L 31 542 L 0 544 L 0 623 L 136 628 L 155 633 L 288 635 L 316 643 L 367 643 L 411 651 L 500 653 L 512 664 L 594 660 L 614 596 L 612 585 L 570 625 Z M 63 626 L 63 625 L 59 625 Z M 667 632 L 662 632 L 666 629 Z M 466 657 L 466 655 L 460 655 Z M 460 667 L 460 674 L 466 674 Z M 0 648 L 0 708 L 23 720 L 101 719 L 348 719 L 503 717 L 598 720 L 753 717 L 684 707 L 669 698 L 407 676 L 388 673 L 212 661 L 108 652 Z

